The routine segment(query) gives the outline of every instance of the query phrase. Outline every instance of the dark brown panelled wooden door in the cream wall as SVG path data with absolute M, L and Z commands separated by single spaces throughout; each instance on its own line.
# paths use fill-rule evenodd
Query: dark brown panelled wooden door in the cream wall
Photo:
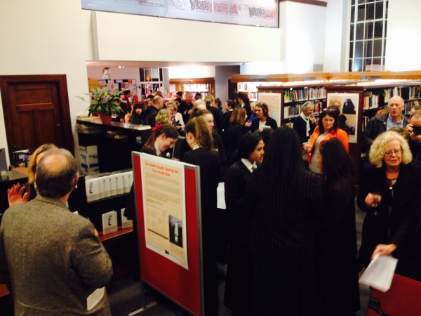
M 0 88 L 8 146 L 74 152 L 65 75 L 0 76 Z

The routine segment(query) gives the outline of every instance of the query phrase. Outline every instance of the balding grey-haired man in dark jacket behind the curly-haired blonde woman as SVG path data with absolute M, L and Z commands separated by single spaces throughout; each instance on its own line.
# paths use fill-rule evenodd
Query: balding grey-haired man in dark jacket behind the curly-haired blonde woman
M 366 129 L 361 133 L 361 152 L 366 152 L 366 157 L 370 152 L 371 143 L 377 136 L 385 131 L 389 131 L 394 126 L 405 129 L 408 124 L 408 119 L 402 115 L 405 103 L 400 96 L 394 96 L 389 99 L 387 106 L 388 112 L 376 115 L 366 126 Z M 368 160 L 368 159 L 367 159 Z

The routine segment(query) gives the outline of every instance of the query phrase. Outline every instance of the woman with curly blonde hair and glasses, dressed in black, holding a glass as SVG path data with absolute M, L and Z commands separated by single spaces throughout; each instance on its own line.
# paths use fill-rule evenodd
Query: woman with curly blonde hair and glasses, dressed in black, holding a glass
M 420 193 L 421 163 L 413 160 L 408 142 L 394 131 L 375 138 L 369 157 L 371 166 L 361 176 L 356 201 L 366 211 L 359 249 L 360 268 L 367 267 L 372 254 L 378 251 L 385 255 L 393 252 L 399 258 L 396 273 L 411 277 L 414 271 L 408 265 L 417 261 L 414 256 L 419 251 L 412 249 L 410 243 L 402 243 L 406 233 L 402 223 L 408 220 Z

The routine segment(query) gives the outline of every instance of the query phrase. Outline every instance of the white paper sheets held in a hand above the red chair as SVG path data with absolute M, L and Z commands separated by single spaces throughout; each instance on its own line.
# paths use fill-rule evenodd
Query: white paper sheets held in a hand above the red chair
M 392 256 L 380 256 L 380 253 L 377 253 L 366 268 L 366 271 L 361 275 L 359 283 L 386 292 L 390 289 L 390 284 L 392 284 L 397 264 L 398 259 Z

